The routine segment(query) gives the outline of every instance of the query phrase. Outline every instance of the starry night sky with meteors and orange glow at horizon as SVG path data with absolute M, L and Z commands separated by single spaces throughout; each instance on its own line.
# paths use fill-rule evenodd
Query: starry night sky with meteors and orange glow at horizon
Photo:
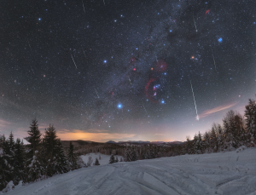
M 185 141 L 254 98 L 254 0 L 4 0 L 0 134 Z

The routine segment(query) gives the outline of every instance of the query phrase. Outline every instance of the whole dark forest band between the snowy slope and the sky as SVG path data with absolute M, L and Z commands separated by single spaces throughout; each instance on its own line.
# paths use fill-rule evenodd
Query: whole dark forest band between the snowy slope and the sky
M 56 135 L 53 125 L 45 129 L 42 135 L 38 129 L 37 119 L 33 119 L 28 136 L 24 138 L 29 144 L 24 145 L 20 138 L 14 140 L 12 132 L 9 138 L 0 135 L 0 190 L 11 181 L 18 185 L 20 182 L 29 183 L 40 181 L 53 175 L 67 173 L 73 169 L 88 167 L 79 157 L 90 152 L 100 152 L 111 155 L 109 163 L 119 162 L 113 155 L 124 157 L 125 162 L 173 157 L 185 154 L 202 154 L 212 152 L 233 151 L 238 148 L 256 146 L 256 102 L 249 100 L 244 118 L 240 113 L 230 111 L 223 118 L 223 126 L 212 124 L 212 129 L 204 134 L 195 134 L 194 139 L 187 137 L 183 145 L 157 146 L 145 144 L 140 146 L 119 146 L 112 143 L 84 142 L 79 146 L 69 146 L 65 149 Z M 100 160 L 101 158 L 99 158 Z M 121 158 L 120 161 L 123 161 Z M 94 165 L 99 165 L 96 158 Z M 14 186 L 13 186 L 14 187 Z M 3 190 L 4 191 L 4 190 Z

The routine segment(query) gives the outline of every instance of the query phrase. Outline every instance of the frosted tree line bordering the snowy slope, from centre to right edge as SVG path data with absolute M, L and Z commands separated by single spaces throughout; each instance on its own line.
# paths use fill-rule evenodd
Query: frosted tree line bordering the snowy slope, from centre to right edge
M 223 125 L 212 124 L 204 134 L 199 132 L 193 139 L 187 136 L 183 145 L 169 148 L 161 146 L 128 146 L 124 151 L 126 162 L 149 158 L 172 157 L 185 154 L 202 154 L 232 151 L 239 147 L 256 146 L 256 101 L 249 100 L 244 118 L 230 110 L 223 118 Z

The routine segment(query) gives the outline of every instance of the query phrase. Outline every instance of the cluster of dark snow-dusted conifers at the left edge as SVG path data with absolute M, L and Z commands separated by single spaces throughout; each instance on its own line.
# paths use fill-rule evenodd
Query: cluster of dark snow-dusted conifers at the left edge
M 11 132 L 7 139 L 0 136 L 0 190 L 13 181 L 38 181 L 52 175 L 79 169 L 83 161 L 74 151 L 70 142 L 67 152 L 58 139 L 53 125 L 45 129 L 44 135 L 38 129 L 37 119 L 33 119 L 24 145 L 20 138 L 14 139 Z

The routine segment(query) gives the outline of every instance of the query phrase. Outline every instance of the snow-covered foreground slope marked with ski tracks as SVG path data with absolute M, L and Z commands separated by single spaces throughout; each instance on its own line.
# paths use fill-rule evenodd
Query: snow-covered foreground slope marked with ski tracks
M 107 159 L 107 156 L 102 155 L 102 158 Z M 256 148 L 130 163 L 103 164 L 102 159 L 101 166 L 78 169 L 26 186 L 16 186 L 7 194 L 255 195 Z

